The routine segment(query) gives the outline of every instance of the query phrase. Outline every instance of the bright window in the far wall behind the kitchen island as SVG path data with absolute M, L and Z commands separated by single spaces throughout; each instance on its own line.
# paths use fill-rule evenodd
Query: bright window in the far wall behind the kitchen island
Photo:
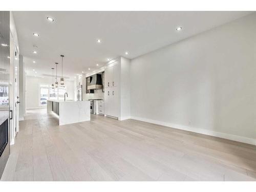
M 65 87 L 59 87 L 52 89 L 51 86 L 47 84 L 39 85 L 39 106 L 46 106 L 47 100 L 64 100 L 64 95 L 66 93 Z

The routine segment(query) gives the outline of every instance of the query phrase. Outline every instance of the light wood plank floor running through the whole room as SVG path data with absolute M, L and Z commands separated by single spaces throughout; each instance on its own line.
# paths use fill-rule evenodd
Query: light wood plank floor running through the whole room
M 100 115 L 58 126 L 30 110 L 1 180 L 255 181 L 256 147 Z

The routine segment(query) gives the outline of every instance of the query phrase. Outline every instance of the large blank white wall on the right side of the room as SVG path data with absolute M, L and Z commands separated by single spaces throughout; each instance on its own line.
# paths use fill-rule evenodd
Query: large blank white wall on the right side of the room
M 131 116 L 256 144 L 255 66 L 253 13 L 133 59 Z

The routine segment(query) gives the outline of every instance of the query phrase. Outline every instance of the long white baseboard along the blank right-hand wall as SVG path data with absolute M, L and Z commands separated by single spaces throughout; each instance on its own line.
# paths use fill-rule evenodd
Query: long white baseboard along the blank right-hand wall
M 172 127 L 172 128 L 179 129 L 179 130 L 185 130 L 185 131 L 190 131 L 190 132 L 194 132 L 194 133 L 200 133 L 200 134 L 204 134 L 204 135 L 210 135 L 210 136 L 220 137 L 223 139 L 229 139 L 229 140 L 233 140 L 233 141 L 239 141 L 242 143 L 256 145 L 256 139 L 252 139 L 252 138 L 248 138 L 248 137 L 231 135 L 231 134 L 227 134 L 227 133 L 199 129 L 199 128 L 195 128 L 195 127 L 183 126 L 183 125 L 179 125 L 179 124 L 167 123 L 167 122 L 146 119 L 146 118 L 141 118 L 141 117 L 135 117 L 135 116 L 131 116 L 131 119 L 144 121 L 144 122 L 148 122 L 148 123 L 159 124 L 159 125 L 163 125 L 163 126 L 168 126 L 168 127 Z

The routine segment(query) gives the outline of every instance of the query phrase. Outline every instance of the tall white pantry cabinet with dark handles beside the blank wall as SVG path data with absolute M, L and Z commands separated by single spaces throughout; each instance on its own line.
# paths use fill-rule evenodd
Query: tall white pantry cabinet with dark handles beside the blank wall
M 111 117 L 119 117 L 119 61 L 115 61 L 105 68 L 104 112 Z

